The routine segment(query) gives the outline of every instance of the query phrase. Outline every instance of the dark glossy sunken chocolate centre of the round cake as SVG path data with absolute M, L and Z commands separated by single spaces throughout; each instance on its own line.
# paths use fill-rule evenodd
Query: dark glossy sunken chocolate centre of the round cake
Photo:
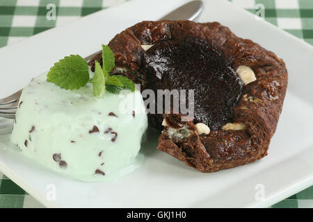
M 194 122 L 211 130 L 232 121 L 243 82 L 216 46 L 197 38 L 161 41 L 143 54 L 147 88 L 193 89 Z

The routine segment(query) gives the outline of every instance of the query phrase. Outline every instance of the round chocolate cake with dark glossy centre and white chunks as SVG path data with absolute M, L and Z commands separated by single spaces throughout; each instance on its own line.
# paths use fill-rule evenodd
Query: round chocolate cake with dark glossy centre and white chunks
M 194 89 L 194 118 L 152 114 L 164 126 L 158 149 L 198 171 L 248 164 L 267 155 L 287 88 L 284 61 L 217 22 L 141 22 L 109 43 L 113 74 L 141 89 Z M 102 63 L 99 53 L 95 60 Z

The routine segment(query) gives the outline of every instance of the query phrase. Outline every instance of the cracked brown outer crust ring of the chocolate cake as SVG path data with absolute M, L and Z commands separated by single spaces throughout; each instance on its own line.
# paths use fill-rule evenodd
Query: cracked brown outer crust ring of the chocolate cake
M 284 61 L 259 44 L 237 37 L 218 22 L 141 22 L 115 35 L 109 43 L 115 56 L 112 73 L 124 74 L 145 89 L 145 50 L 141 45 L 164 40 L 179 41 L 187 37 L 214 44 L 235 70 L 244 65 L 254 72 L 256 80 L 243 86 L 239 103 L 233 110 L 232 122 L 241 123 L 244 128 L 211 130 L 208 135 L 198 135 L 193 121 L 181 122 L 179 114 L 163 114 L 166 126 L 157 148 L 202 172 L 228 169 L 266 156 L 282 112 L 288 74 Z M 95 60 L 102 63 L 102 54 L 90 60 L 92 69 Z M 160 123 L 163 121 L 160 117 L 156 119 Z M 170 135 L 169 129 L 172 132 L 177 126 L 188 129 L 188 137 Z

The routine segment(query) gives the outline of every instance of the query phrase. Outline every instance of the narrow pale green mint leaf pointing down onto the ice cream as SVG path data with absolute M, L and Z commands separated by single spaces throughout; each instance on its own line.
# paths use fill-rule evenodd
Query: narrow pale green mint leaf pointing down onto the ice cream
M 93 95 L 97 99 L 101 99 L 106 92 L 104 73 L 99 65 L 99 62 L 95 61 L 95 74 L 93 75 Z

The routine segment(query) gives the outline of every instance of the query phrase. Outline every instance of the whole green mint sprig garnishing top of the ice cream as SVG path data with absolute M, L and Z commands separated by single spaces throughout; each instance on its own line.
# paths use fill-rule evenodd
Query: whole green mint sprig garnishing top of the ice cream
M 100 99 L 105 91 L 112 94 L 119 94 L 122 89 L 130 92 L 135 91 L 135 83 L 122 75 L 110 75 L 115 67 L 113 51 L 109 46 L 102 45 L 102 68 L 99 62 L 95 61 L 95 74 L 89 78 L 88 63 L 79 55 L 66 56 L 51 67 L 47 74 L 47 81 L 55 83 L 63 89 L 79 89 L 88 82 L 93 84 L 93 95 Z

